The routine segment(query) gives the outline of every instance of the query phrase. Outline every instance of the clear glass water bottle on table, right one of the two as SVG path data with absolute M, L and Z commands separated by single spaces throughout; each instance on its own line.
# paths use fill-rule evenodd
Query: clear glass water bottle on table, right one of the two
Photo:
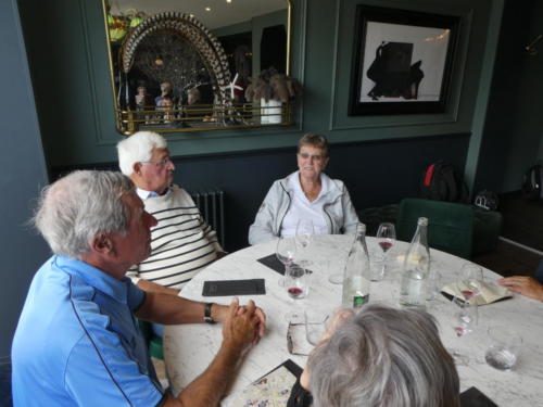
M 430 250 L 428 249 L 428 218 L 418 218 L 417 231 L 405 253 L 400 304 L 425 307 L 430 276 Z

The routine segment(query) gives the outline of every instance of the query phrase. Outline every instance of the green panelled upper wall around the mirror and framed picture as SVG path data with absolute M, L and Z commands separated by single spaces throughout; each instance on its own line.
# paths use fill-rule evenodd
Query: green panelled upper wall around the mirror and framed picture
M 452 103 L 445 114 L 349 117 L 346 114 L 358 2 L 445 13 L 462 17 Z M 100 1 L 20 0 L 43 120 L 48 157 L 53 166 L 110 162 L 121 137 L 113 123 Z M 295 0 L 292 74 L 305 93 L 299 125 L 285 129 L 222 130 L 168 136 L 175 155 L 230 153 L 294 144 L 303 131 L 324 132 L 332 143 L 469 133 L 478 82 L 484 67 L 491 1 L 480 0 Z M 38 15 L 39 14 L 39 15 Z M 489 39 L 490 38 L 490 39 Z M 43 42 L 49 47 L 43 47 Z M 485 94 L 482 94 L 485 99 Z M 417 143 L 420 141 L 416 141 Z M 422 144 L 421 144 L 422 148 Z

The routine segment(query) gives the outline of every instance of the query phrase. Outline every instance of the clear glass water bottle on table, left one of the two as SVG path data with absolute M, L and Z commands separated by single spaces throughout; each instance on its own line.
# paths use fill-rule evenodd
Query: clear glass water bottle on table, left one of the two
M 359 308 L 369 300 L 369 255 L 366 246 L 366 225 L 358 224 L 356 238 L 349 252 L 343 276 L 344 308 Z

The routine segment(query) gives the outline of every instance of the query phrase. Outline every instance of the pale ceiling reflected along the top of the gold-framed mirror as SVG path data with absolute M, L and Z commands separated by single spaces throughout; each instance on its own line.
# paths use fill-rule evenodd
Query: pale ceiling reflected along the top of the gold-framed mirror
M 230 3 L 226 0 L 110 0 L 110 4 L 112 14 L 125 14 L 129 9 L 148 15 L 163 11 L 193 14 L 207 28 L 215 29 L 286 9 L 287 0 L 231 0 Z

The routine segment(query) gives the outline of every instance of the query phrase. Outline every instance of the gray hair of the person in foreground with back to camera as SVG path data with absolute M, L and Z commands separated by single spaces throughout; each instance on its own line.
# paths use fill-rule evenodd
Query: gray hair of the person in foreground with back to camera
M 459 406 L 454 361 L 425 311 L 366 306 L 307 366 L 314 407 Z

